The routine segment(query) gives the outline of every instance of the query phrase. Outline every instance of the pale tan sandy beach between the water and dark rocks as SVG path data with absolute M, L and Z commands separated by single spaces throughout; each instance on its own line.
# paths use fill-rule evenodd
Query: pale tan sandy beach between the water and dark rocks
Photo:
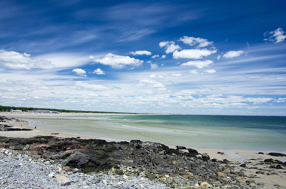
M 82 115 L 91 115 L 91 114 L 11 114 L 11 113 L 0 113 L 0 116 L 5 116 L 8 118 L 17 118 L 19 120 L 14 121 L 7 121 L 2 122 L 1 124 L 6 124 L 8 126 L 13 126 L 14 128 L 27 128 L 31 129 L 31 126 L 27 123 L 27 121 L 24 121 L 21 118 L 21 116 L 25 115 L 25 117 L 65 117 L 65 118 L 74 118 L 76 116 L 82 116 Z M 95 114 L 92 114 L 95 115 Z M 96 115 L 106 115 L 106 114 L 96 114 Z M 108 114 L 109 115 L 109 114 Z M 22 126 L 21 126 L 22 124 Z M 88 136 L 80 136 L 80 135 L 72 135 L 72 134 L 66 134 L 66 133 L 60 133 L 60 132 L 51 132 L 47 130 L 42 129 L 34 129 L 32 128 L 32 131 L 0 131 L 0 136 L 4 137 L 22 137 L 22 138 L 29 138 L 29 137 L 35 137 L 35 136 L 56 136 L 56 137 L 80 137 L 81 139 L 92 139 L 95 137 L 88 137 Z M 56 135 L 54 135 L 57 133 Z M 102 138 L 101 138 L 102 139 Z M 110 141 L 109 139 L 105 139 L 107 141 Z M 120 141 L 116 141 L 120 142 Z M 129 141 L 128 141 L 129 142 Z M 176 144 L 174 144 L 176 146 Z M 174 146 L 170 146 L 172 148 L 175 148 Z M 191 147 L 191 146 L 186 146 Z M 227 149 L 200 149 L 200 148 L 193 148 L 198 151 L 198 153 L 207 153 L 210 158 L 215 158 L 217 160 L 223 160 L 227 159 L 233 162 L 233 166 L 236 166 L 236 170 L 239 171 L 243 167 L 239 167 L 238 165 L 247 162 L 248 166 L 253 165 L 256 166 L 258 169 L 267 169 L 266 165 L 257 165 L 259 161 L 263 161 L 265 159 L 277 159 L 279 161 L 285 162 L 286 157 L 275 157 L 267 155 L 266 153 L 269 153 L 270 151 L 259 151 L 263 152 L 264 154 L 258 154 L 258 151 L 234 151 L 234 150 L 227 150 Z M 218 154 L 217 152 L 222 152 L 224 154 Z M 286 187 L 286 172 L 283 169 L 277 169 L 277 175 L 267 175 L 267 174 L 256 174 L 256 169 L 245 169 L 247 175 L 257 175 L 255 177 L 256 182 L 264 183 L 264 188 L 277 188 L 276 186 L 273 186 L 274 184 L 279 184 L 280 186 Z M 280 187 L 280 188 L 284 188 Z

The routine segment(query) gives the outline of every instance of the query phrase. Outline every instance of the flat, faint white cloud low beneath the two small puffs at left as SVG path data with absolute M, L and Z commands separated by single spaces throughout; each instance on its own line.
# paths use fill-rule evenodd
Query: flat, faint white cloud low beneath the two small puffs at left
M 73 85 L 66 85 L 69 89 L 84 90 L 84 91 L 106 91 L 112 89 L 120 89 L 119 87 L 112 85 L 103 85 L 96 83 L 84 83 L 82 81 L 77 81 Z

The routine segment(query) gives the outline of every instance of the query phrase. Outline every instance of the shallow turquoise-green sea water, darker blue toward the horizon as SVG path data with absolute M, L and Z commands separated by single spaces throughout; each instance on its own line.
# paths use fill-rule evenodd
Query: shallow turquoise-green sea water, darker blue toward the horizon
M 190 148 L 286 151 L 286 117 L 283 116 L 116 115 L 86 118 L 83 115 L 73 119 L 27 117 L 25 120 L 33 121 L 33 126 L 41 129 L 60 129 L 63 133 L 107 140 L 140 139 Z

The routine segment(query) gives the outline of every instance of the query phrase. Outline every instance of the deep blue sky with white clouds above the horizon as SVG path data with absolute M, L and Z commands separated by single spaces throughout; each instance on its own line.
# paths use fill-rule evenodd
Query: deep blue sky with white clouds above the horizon
M 285 1 L 0 1 L 0 105 L 286 116 Z

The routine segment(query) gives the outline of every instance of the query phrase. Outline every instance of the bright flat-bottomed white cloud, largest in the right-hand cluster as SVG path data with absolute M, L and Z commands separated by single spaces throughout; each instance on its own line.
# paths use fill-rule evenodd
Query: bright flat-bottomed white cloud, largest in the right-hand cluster
M 174 59 L 202 59 L 203 56 L 209 56 L 211 54 L 216 53 L 217 50 L 207 50 L 207 49 L 184 49 L 181 51 L 173 52 Z

